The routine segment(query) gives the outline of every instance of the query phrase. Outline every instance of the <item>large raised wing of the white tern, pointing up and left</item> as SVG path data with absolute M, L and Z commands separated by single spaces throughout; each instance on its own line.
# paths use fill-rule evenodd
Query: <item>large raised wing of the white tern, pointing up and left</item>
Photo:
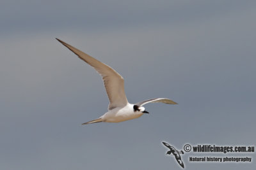
M 68 45 L 58 38 L 56 39 L 63 45 L 67 46 L 67 48 L 74 52 L 80 59 L 94 67 L 94 69 L 102 76 L 104 86 L 109 98 L 109 110 L 112 110 L 116 107 L 125 106 L 128 103 L 124 91 L 124 78 L 120 74 L 99 60 L 94 59 L 84 52 L 81 52 L 74 46 Z

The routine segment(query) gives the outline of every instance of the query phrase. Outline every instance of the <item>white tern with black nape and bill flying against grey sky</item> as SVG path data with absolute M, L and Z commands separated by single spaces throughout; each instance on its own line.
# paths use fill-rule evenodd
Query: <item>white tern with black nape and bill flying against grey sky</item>
M 166 98 L 155 98 L 140 103 L 131 104 L 127 101 L 124 91 L 124 78 L 118 74 L 114 69 L 106 64 L 94 59 L 90 55 L 81 52 L 77 48 L 61 41 L 56 38 L 60 43 L 67 46 L 69 50 L 74 52 L 80 59 L 84 60 L 87 64 L 92 66 L 101 76 L 104 81 L 104 86 L 109 98 L 108 112 L 101 117 L 86 122 L 84 124 L 93 124 L 98 122 L 123 122 L 133 118 L 139 118 L 143 113 L 148 113 L 143 107 L 147 103 L 166 103 L 177 104 L 174 101 Z M 83 124 L 83 125 L 84 125 Z

